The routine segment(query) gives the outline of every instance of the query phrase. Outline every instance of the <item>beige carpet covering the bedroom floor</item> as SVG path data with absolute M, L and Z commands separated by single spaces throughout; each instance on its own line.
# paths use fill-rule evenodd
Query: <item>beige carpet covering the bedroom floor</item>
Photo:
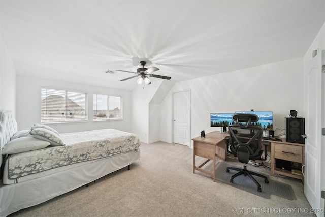
M 315 216 L 297 211 L 310 209 L 297 179 L 270 177 L 290 184 L 296 200 L 265 199 L 213 182 L 201 172 L 193 174 L 192 149 L 186 146 L 157 142 L 142 144 L 141 151 L 129 171 L 124 168 L 10 216 Z M 241 166 L 231 159 L 227 163 Z

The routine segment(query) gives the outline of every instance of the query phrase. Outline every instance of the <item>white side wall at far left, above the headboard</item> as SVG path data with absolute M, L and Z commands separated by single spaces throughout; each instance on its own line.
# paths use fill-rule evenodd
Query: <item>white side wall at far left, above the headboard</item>
M 16 71 L 12 57 L 0 35 L 0 110 L 16 115 Z

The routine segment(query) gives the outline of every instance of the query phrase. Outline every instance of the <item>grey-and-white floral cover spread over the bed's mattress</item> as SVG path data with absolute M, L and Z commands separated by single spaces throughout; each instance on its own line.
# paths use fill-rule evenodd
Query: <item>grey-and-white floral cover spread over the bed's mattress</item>
M 65 133 L 60 137 L 66 145 L 10 155 L 7 159 L 8 178 L 15 179 L 74 163 L 138 151 L 141 144 L 136 134 L 115 129 Z

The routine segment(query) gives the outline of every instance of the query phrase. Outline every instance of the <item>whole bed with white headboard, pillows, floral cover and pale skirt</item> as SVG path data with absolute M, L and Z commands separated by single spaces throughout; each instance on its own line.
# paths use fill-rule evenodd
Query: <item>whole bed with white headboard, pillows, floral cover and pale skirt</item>
M 0 216 L 129 169 L 140 144 L 137 135 L 115 129 L 58 134 L 37 124 L 17 131 L 11 111 L 0 111 Z

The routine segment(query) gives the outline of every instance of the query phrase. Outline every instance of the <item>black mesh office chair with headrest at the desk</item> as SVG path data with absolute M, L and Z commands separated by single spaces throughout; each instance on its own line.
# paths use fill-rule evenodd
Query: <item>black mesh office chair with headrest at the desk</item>
M 254 125 L 258 119 L 258 116 L 255 114 L 235 113 L 233 115 L 233 120 L 236 121 L 236 124 L 228 126 L 230 153 L 234 154 L 235 157 L 238 157 L 239 162 L 244 163 L 245 165 L 243 169 L 227 167 L 226 172 L 229 172 L 229 170 L 239 171 L 231 177 L 231 183 L 233 183 L 234 178 L 239 175 L 248 176 L 256 183 L 257 191 L 261 192 L 261 184 L 259 184 L 252 175 L 264 178 L 265 183 L 269 183 L 268 178 L 253 171 L 248 171 L 246 168 L 246 164 L 249 160 L 265 160 L 261 158 L 261 154 L 263 153 L 261 142 L 263 129 Z

